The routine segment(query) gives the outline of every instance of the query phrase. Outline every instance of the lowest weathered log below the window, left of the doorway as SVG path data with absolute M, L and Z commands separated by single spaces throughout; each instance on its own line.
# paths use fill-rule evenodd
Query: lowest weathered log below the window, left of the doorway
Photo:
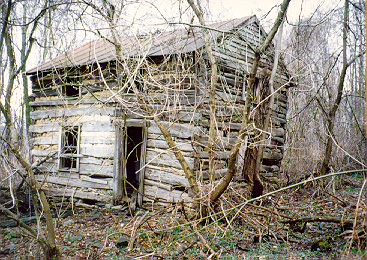
M 53 188 L 53 187 L 42 187 L 42 190 L 48 196 L 56 196 L 56 197 L 73 197 L 79 199 L 88 199 L 88 200 L 96 200 L 105 203 L 112 203 L 112 195 L 105 195 L 98 193 L 97 191 L 81 191 L 77 189 L 68 189 L 68 188 Z

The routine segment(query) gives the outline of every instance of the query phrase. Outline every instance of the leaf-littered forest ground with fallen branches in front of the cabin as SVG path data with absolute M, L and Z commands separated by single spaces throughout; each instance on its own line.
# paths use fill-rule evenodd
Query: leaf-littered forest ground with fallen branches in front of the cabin
M 130 216 L 124 206 L 55 199 L 57 245 L 68 259 L 366 259 L 363 182 L 342 176 L 335 189 L 308 184 L 246 205 L 244 191 L 232 187 L 219 213 L 201 223 L 190 221 L 195 212 L 181 204 L 146 205 Z M 2 202 L 10 199 L 2 193 Z M 37 228 L 35 218 L 23 217 Z M 0 259 L 42 258 L 16 223 L 4 215 L 0 223 Z

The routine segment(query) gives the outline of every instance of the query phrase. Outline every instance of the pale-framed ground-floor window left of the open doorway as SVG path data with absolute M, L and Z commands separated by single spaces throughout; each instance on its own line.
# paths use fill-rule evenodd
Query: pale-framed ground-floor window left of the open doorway
M 79 171 L 80 126 L 64 126 L 60 140 L 60 171 Z

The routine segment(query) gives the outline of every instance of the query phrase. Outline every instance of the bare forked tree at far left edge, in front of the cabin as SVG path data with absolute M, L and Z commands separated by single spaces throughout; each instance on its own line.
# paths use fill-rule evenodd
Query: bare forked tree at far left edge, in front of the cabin
M 47 2 L 47 1 L 46 1 Z M 27 226 L 20 220 L 20 216 L 14 214 L 5 206 L 1 205 L 0 210 L 7 214 L 10 218 L 15 219 L 20 227 L 24 230 L 24 232 L 35 239 L 40 243 L 45 257 L 50 259 L 51 257 L 58 254 L 58 248 L 56 246 L 55 241 L 55 231 L 54 231 L 54 223 L 51 215 L 51 209 L 46 198 L 45 193 L 41 190 L 41 185 L 37 182 L 34 176 L 34 167 L 27 161 L 27 154 L 22 151 L 22 144 L 19 140 L 21 136 L 20 128 L 16 127 L 16 115 L 14 113 L 14 109 L 12 107 L 12 95 L 14 92 L 14 87 L 16 85 L 16 80 L 20 77 L 20 74 L 25 71 L 25 64 L 29 58 L 30 52 L 32 50 L 32 46 L 34 43 L 34 34 L 38 28 L 39 21 L 46 13 L 46 6 L 40 6 L 37 8 L 37 12 L 35 16 L 29 21 L 26 17 L 29 15 L 26 11 L 27 2 L 16 3 L 11 0 L 6 3 L 3 2 L 1 5 L 2 11 L 2 22 L 1 22 L 1 35 L 0 35 L 0 53 L 2 55 L 2 64 L 6 64 L 3 66 L 1 71 L 1 77 L 4 78 L 7 76 L 7 82 L 5 87 L 2 89 L 1 97 L 4 99 L 4 103 L 0 101 L 0 111 L 5 118 L 6 128 L 8 130 L 8 134 L 4 137 L 1 137 L 1 142 L 4 144 L 2 149 L 4 149 L 2 163 L 9 164 L 10 168 L 16 168 L 16 172 L 23 178 L 23 180 L 28 184 L 28 187 L 31 190 L 33 195 L 33 203 L 35 205 L 35 210 L 38 210 L 38 206 L 41 206 L 44 212 L 44 217 L 46 219 L 46 230 L 42 229 L 39 232 L 33 230 L 31 227 Z M 37 6 L 37 5 L 36 5 Z M 22 17 L 18 19 L 15 16 L 17 8 L 22 9 Z M 17 64 L 17 54 L 18 51 L 17 44 L 15 42 L 15 37 L 12 35 L 17 33 L 19 27 L 21 27 L 21 35 L 22 41 L 20 43 L 20 60 Z M 5 43 L 5 44 L 3 44 Z M 24 98 L 25 103 L 28 104 L 28 85 L 27 79 L 25 76 L 23 78 L 24 85 Z M 29 106 L 26 105 L 26 114 L 27 114 L 27 123 L 26 126 L 29 125 Z M 22 124 L 20 124 L 21 126 Z M 8 151 L 5 153 L 5 151 Z M 8 167 L 7 167 L 8 169 Z M 8 178 L 13 178 L 9 174 Z M 3 177 L 3 176 L 2 176 Z M 13 187 L 10 187 L 13 189 Z M 13 191 L 11 191 L 13 192 Z

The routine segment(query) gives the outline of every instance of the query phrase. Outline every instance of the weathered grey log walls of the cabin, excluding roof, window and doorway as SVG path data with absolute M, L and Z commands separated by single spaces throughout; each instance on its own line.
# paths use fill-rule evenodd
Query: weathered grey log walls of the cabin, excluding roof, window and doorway
M 260 43 L 261 27 L 256 21 L 235 29 L 217 41 L 215 55 L 220 68 L 216 92 L 217 104 L 217 158 L 216 177 L 220 178 L 226 171 L 226 158 L 238 135 L 240 128 L 243 88 L 251 69 L 254 46 Z M 161 112 L 164 124 L 170 128 L 173 139 L 182 150 L 189 166 L 197 178 L 208 177 L 208 143 L 209 127 L 208 84 L 210 71 L 208 60 L 202 49 L 189 54 L 185 66 L 178 66 L 180 55 L 171 55 L 160 66 L 150 67 L 152 75 L 142 77 L 141 84 L 152 91 L 149 106 Z M 158 63 L 157 63 L 158 64 Z M 192 64 L 195 64 L 194 66 Z M 272 56 L 262 58 L 258 77 L 271 70 Z M 281 63 L 280 63 L 281 64 Z M 189 69 L 185 69 L 188 66 Z M 153 69 L 152 69 L 153 68 Z M 116 90 L 115 70 L 111 63 L 102 64 L 104 78 L 111 89 Z M 74 73 L 74 75 L 73 75 Z M 45 189 L 54 195 L 70 195 L 76 198 L 112 201 L 114 156 L 115 156 L 115 121 L 121 117 L 128 120 L 142 120 L 139 114 L 146 115 L 136 106 L 126 111 L 114 99 L 105 103 L 110 97 L 109 91 L 103 90 L 103 84 L 96 72 L 96 66 L 89 65 L 78 71 L 64 71 L 64 78 L 76 78 L 83 86 L 81 97 L 64 99 L 60 96 L 60 86 L 68 84 L 55 73 L 33 75 L 34 101 L 31 102 L 33 121 L 32 133 L 33 161 L 41 160 L 51 153 L 58 153 L 60 128 L 65 124 L 79 124 L 80 134 L 80 169 L 78 173 L 59 172 L 58 158 L 50 159 L 42 165 L 39 180 L 47 177 Z M 44 76 L 43 76 L 44 75 Z M 284 66 L 278 68 L 277 88 L 287 83 L 289 76 Z M 153 80 L 154 79 L 154 80 Z M 171 86 L 164 92 L 157 86 Z M 127 103 L 136 104 L 133 94 L 121 96 Z M 256 105 L 256 104 L 254 104 Z M 166 111 L 170 108 L 170 111 Z M 285 136 L 287 112 L 287 89 L 282 87 L 275 94 L 275 106 L 271 120 L 271 140 L 264 152 L 262 173 L 264 178 L 276 181 L 280 172 Z M 251 132 L 249 133 L 251 138 Z M 240 152 L 240 156 L 243 151 Z M 241 170 L 241 158 L 238 160 L 238 172 Z M 189 200 L 188 181 L 180 164 L 160 133 L 154 121 L 147 119 L 146 166 L 144 178 L 145 201 L 181 201 Z M 241 174 L 236 177 L 240 179 Z

